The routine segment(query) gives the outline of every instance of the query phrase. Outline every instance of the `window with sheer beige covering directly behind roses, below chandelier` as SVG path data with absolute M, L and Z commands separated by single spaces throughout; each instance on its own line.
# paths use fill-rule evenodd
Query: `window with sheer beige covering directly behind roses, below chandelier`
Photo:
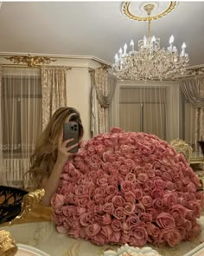
M 166 88 L 120 87 L 119 126 L 126 132 L 144 132 L 167 140 Z

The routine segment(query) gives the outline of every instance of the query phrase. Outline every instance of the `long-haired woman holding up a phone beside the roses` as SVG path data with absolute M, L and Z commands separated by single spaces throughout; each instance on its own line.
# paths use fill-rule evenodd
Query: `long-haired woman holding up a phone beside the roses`
M 78 144 L 74 144 L 66 147 L 67 143 L 73 139 L 63 141 L 63 124 L 68 121 L 78 122 L 80 141 L 84 134 L 80 113 L 74 108 L 59 108 L 41 134 L 36 144 L 35 153 L 31 156 L 29 174 L 35 187 L 45 189 L 45 195 L 41 202 L 48 207 L 51 197 L 58 187 L 62 168 L 73 155 L 69 151 L 78 146 Z

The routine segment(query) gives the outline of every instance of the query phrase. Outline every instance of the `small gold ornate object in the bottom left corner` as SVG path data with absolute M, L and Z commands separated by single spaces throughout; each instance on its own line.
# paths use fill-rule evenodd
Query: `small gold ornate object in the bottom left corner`
M 12 239 L 10 232 L 0 230 L 0 255 L 14 256 L 17 252 L 17 246 Z

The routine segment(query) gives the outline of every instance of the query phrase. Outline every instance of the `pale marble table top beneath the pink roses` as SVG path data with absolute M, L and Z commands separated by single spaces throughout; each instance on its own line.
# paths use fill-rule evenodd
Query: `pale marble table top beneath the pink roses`
M 198 221 L 201 223 L 202 233 L 193 242 L 182 241 L 180 245 L 174 248 L 169 246 L 151 247 L 163 256 L 185 255 L 204 241 L 204 215 Z M 65 233 L 57 233 L 53 222 L 0 226 L 0 229 L 8 230 L 16 243 L 35 246 L 35 248 L 48 253 L 50 256 L 102 256 L 105 249 L 118 248 L 118 246 L 111 245 L 95 246 L 86 240 L 69 238 Z

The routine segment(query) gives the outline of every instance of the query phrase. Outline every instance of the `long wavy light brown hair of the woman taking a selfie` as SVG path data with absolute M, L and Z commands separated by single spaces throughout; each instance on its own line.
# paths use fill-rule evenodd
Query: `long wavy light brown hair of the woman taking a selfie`
M 84 135 L 80 113 L 76 109 L 63 107 L 54 113 L 36 142 L 34 154 L 30 157 L 29 176 L 35 187 L 40 187 L 41 180 L 44 177 L 48 178 L 52 173 L 57 160 L 58 143 L 65 121 L 77 121 L 79 124 L 79 138 L 81 139 Z

